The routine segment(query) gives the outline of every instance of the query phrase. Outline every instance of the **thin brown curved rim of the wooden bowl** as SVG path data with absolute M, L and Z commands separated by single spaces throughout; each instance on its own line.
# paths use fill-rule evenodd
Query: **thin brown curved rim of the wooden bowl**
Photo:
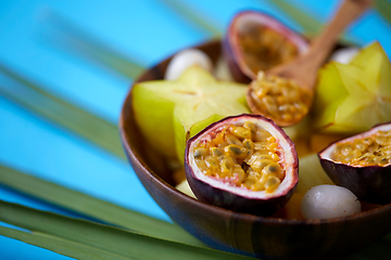
M 219 39 L 214 39 L 214 40 L 205 41 L 205 42 L 202 42 L 200 44 L 191 46 L 191 47 L 188 47 L 188 48 L 200 49 L 202 47 L 214 46 L 214 44 L 220 44 L 220 40 Z M 184 48 L 182 50 L 188 49 L 188 48 Z M 177 53 L 177 52 L 175 52 L 175 53 Z M 220 207 L 217 207 L 217 206 L 214 206 L 214 205 L 209 205 L 206 203 L 203 203 L 203 202 L 200 202 L 200 200 L 198 200 L 195 198 L 192 198 L 192 197 L 186 195 L 185 193 L 178 191 L 174 186 L 172 186 L 169 183 L 167 183 L 165 180 L 163 180 L 159 174 L 156 174 L 144 162 L 144 160 L 138 155 L 138 152 L 135 148 L 131 147 L 130 143 L 128 142 L 129 136 L 128 136 L 127 132 L 125 131 L 125 122 L 127 120 L 127 118 L 125 118 L 125 115 L 128 114 L 126 112 L 126 109 L 128 109 L 128 107 L 131 109 L 133 87 L 136 83 L 143 81 L 142 78 L 147 74 L 149 74 L 149 72 L 151 72 L 153 69 L 156 69 L 156 67 L 160 64 L 168 62 L 173 57 L 173 55 L 175 55 L 175 53 L 169 55 L 168 57 L 166 57 L 162 62 L 155 64 L 154 66 L 150 67 L 149 69 L 147 69 L 144 73 L 142 73 L 137 78 L 137 80 L 134 81 L 134 83 L 131 84 L 129 91 L 126 94 L 126 99 L 124 100 L 124 103 L 123 103 L 123 106 L 122 106 L 122 109 L 121 109 L 119 121 L 118 121 L 119 135 L 121 135 L 122 142 L 123 142 L 123 146 L 126 150 L 128 156 L 130 157 L 129 159 L 135 161 L 135 164 L 137 164 L 137 166 L 142 169 L 142 172 L 144 174 L 147 174 L 147 177 L 149 179 L 155 181 L 162 188 L 164 188 L 165 191 L 167 191 L 171 194 L 174 194 L 175 196 L 179 196 L 181 199 L 184 199 L 185 203 L 188 203 L 190 206 L 195 206 L 198 208 L 203 208 L 205 210 L 213 211 L 218 216 L 231 216 L 232 218 L 236 218 L 236 219 L 239 219 L 239 220 L 244 220 L 244 221 L 251 220 L 253 222 L 261 222 L 261 223 L 267 223 L 267 224 L 287 224 L 287 225 L 337 224 L 337 223 L 340 223 L 340 222 L 361 220 L 361 219 L 365 219 L 365 218 L 367 218 L 369 216 L 378 216 L 378 214 L 381 214 L 383 212 L 391 211 L 391 203 L 390 203 L 390 204 L 382 205 L 382 206 L 377 207 L 377 208 L 373 208 L 373 209 L 369 209 L 369 210 L 366 210 L 366 211 L 362 211 L 360 213 L 355 213 L 355 214 L 351 214 L 351 216 L 346 216 L 346 217 L 330 218 L 330 219 L 298 220 L 298 219 L 283 219 L 283 218 L 276 218 L 276 217 L 260 217 L 260 216 L 255 216 L 255 214 L 236 212 L 236 211 L 224 209 L 224 208 L 220 208 Z M 209 54 L 209 53 L 206 53 L 206 54 Z M 129 114 L 130 115 L 133 114 L 131 110 L 130 110 Z M 299 172 L 299 174 L 300 174 L 300 172 Z M 384 231 L 384 232 L 387 232 L 387 231 Z

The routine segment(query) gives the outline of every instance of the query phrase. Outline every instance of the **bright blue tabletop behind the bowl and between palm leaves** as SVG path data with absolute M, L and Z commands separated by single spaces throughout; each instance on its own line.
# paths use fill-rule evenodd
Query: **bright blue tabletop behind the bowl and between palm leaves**
M 378 40 L 391 54 L 391 1 L 349 27 L 344 39 Z M 1 0 L 0 165 L 40 180 L 171 222 L 146 192 L 123 154 L 114 153 L 39 110 L 64 101 L 117 126 L 133 80 L 176 51 L 224 35 L 241 10 L 265 11 L 312 34 L 337 0 Z M 286 10 L 304 13 L 303 23 Z M 31 87 L 34 86 L 34 87 Z M 38 89 L 35 89 L 38 88 Z M 37 94 L 39 93 L 39 94 Z M 50 96 L 50 102 L 41 100 Z M 30 103 L 31 102 L 31 103 Z M 37 108 L 38 107 L 38 108 Z M 38 110 L 37 110 L 38 109 Z M 91 130 L 93 131 L 93 129 Z M 118 136 L 119 139 L 119 136 Z M 1 184 L 0 199 L 88 218 Z M 5 223 L 1 223 L 7 225 Z M 0 259 L 67 257 L 0 236 Z

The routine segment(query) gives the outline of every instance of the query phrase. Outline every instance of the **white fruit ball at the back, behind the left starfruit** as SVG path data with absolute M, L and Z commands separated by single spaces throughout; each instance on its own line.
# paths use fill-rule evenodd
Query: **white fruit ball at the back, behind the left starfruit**
M 213 63 L 212 60 L 198 49 L 187 49 L 178 52 L 169 62 L 164 79 L 175 80 L 185 72 L 186 68 L 198 65 L 203 69 L 212 73 Z

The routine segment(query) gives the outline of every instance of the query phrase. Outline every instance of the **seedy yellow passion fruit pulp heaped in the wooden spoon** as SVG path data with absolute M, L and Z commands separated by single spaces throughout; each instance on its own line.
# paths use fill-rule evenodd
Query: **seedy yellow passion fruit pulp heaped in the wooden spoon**
M 250 88 L 256 109 L 277 122 L 291 125 L 308 112 L 311 94 L 293 80 L 258 72 Z

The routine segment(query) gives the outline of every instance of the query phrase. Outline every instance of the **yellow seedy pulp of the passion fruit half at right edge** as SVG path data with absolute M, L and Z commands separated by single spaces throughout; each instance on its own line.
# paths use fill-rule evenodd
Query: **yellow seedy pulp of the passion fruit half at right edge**
M 338 143 L 331 158 L 353 166 L 384 166 L 391 162 L 391 130 L 377 131 L 365 139 Z

